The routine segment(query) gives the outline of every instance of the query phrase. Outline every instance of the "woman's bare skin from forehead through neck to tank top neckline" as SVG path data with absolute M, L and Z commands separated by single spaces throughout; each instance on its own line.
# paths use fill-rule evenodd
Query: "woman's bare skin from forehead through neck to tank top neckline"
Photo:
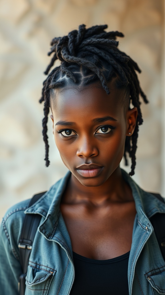
M 95 83 L 81 91 L 54 90 L 51 97 L 55 143 L 72 173 L 60 209 L 73 251 L 99 260 L 131 249 L 136 215 L 119 163 L 125 138 L 134 132 L 137 108 L 121 103 L 124 90 L 111 87 L 110 92 Z M 91 163 L 98 165 L 97 175 L 82 175 L 80 165 Z

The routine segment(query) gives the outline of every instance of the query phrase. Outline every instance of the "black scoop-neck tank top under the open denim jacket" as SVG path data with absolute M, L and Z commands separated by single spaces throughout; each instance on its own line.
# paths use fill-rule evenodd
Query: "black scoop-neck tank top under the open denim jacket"
M 70 295 L 129 295 L 129 253 L 112 259 L 95 260 L 73 252 L 75 281 Z

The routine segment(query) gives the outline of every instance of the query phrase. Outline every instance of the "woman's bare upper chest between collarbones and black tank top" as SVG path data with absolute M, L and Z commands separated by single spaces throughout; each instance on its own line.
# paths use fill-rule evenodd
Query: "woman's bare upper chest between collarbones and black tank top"
M 92 259 L 110 259 L 130 250 L 136 215 L 134 203 L 120 211 L 114 207 L 92 212 L 77 208 L 68 212 L 65 205 L 61 211 L 75 253 Z

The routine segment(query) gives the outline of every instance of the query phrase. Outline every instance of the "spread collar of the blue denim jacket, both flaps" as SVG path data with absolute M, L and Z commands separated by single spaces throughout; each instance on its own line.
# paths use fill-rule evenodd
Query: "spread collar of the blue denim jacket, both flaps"
M 137 216 L 140 222 L 146 227 L 149 218 L 156 213 L 165 213 L 165 204 L 152 194 L 142 190 L 135 181 L 123 169 L 122 176 L 129 183 L 135 201 Z M 49 219 L 53 229 L 58 222 L 60 213 L 60 200 L 71 176 L 68 171 L 66 175 L 56 182 L 50 189 L 31 207 L 25 210 L 25 214 L 40 214 Z M 46 221 L 46 220 L 45 220 Z

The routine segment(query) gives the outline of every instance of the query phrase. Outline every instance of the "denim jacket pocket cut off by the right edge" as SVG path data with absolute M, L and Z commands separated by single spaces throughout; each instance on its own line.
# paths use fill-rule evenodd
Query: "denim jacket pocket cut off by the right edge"
M 165 266 L 145 274 L 154 295 L 165 294 Z

